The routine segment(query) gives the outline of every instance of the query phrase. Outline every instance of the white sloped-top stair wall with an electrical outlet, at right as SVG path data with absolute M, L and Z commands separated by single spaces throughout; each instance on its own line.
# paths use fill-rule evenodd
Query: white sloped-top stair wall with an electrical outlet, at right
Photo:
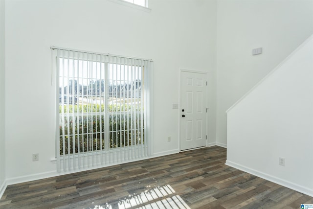
M 228 111 L 226 164 L 313 196 L 312 95 L 313 35 Z

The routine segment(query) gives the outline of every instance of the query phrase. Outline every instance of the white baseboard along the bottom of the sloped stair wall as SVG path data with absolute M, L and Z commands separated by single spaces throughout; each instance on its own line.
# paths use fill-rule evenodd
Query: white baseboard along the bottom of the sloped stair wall
M 312 188 L 308 188 L 308 187 L 305 187 L 305 186 L 294 184 L 292 182 L 280 179 L 280 178 L 275 177 L 275 176 L 268 175 L 268 174 L 263 173 L 261 171 L 254 170 L 254 169 L 248 168 L 246 166 L 243 166 L 243 165 L 240 165 L 240 164 L 237 164 L 237 163 L 233 163 L 233 162 L 228 161 L 228 160 L 226 160 L 225 165 L 237 168 L 239 170 L 242 170 L 242 171 L 245 171 L 247 173 L 250 173 L 250 174 L 252 174 L 254 176 L 257 176 L 257 177 L 260 177 L 262 179 L 268 180 L 270 182 L 279 184 L 281 186 L 286 186 L 288 188 L 291 188 L 293 190 L 296 190 L 298 192 L 301 192 L 301 193 L 304 193 L 304 194 L 307 194 L 307 195 L 313 197 L 313 189 Z

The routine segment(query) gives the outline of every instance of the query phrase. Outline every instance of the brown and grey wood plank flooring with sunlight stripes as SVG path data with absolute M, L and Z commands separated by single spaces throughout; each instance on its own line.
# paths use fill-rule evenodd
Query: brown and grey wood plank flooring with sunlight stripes
M 10 185 L 1 209 L 300 209 L 313 197 L 225 165 L 218 146 Z

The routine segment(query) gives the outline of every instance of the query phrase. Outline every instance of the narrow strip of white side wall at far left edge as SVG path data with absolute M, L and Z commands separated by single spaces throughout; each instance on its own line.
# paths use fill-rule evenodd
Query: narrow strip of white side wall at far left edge
M 5 186 L 5 1 L 0 0 L 0 197 Z

